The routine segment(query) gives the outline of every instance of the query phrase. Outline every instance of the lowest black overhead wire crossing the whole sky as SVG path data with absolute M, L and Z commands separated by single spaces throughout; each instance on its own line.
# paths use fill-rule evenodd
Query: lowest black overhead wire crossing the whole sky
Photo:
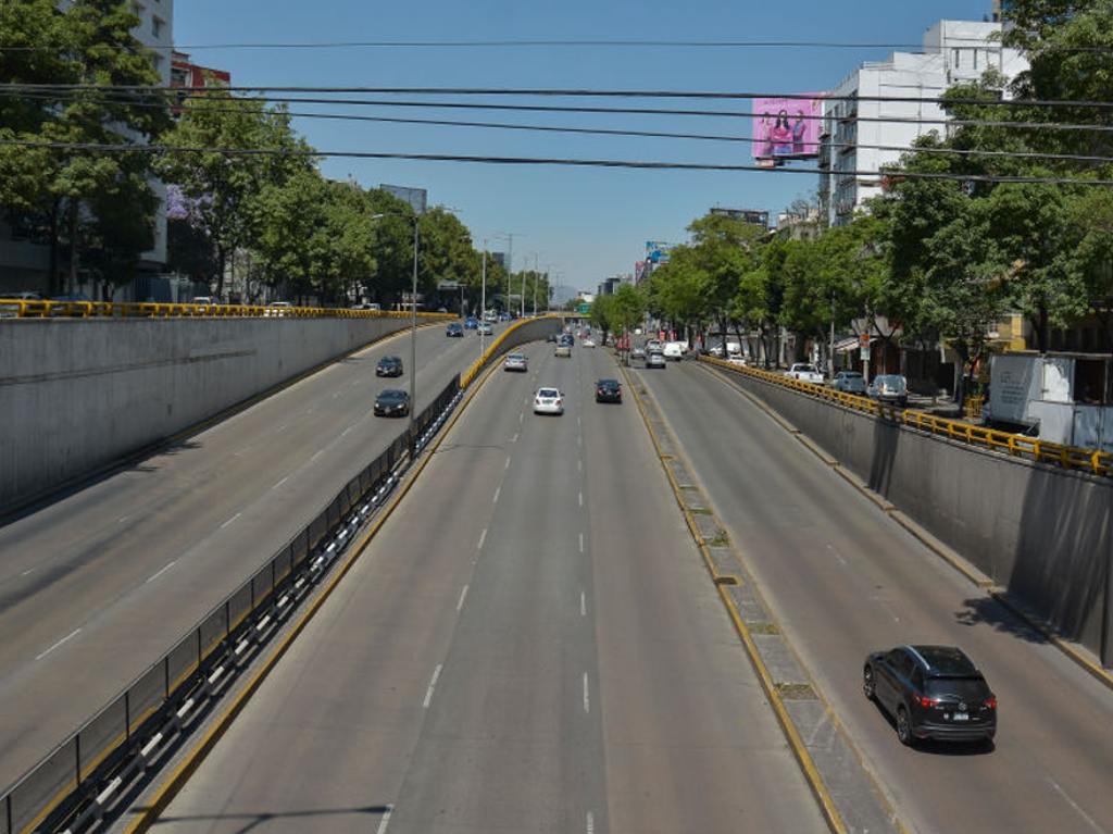
M 111 154 L 221 154 L 226 156 L 333 157 L 348 159 L 410 159 L 415 161 L 473 163 L 510 166 L 571 166 L 583 168 L 634 168 L 641 170 L 693 171 L 779 171 L 784 174 L 837 174 L 839 176 L 893 179 L 939 179 L 961 183 L 1017 183 L 1046 185 L 1113 186 L 1113 179 L 1078 177 L 995 176 L 986 174 L 944 174 L 932 171 L 821 170 L 819 168 L 766 168 L 759 165 L 727 163 L 677 163 L 638 159 L 577 159 L 568 157 L 470 156 L 463 154 L 404 154 L 372 150 L 287 150 L 272 148 L 184 147 L 168 145 L 112 145 L 99 143 L 33 141 L 0 139 L 0 146 L 79 150 Z

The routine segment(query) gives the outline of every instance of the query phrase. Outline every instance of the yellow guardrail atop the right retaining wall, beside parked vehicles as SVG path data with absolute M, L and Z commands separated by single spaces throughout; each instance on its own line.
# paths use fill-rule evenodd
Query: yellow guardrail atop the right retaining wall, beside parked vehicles
M 798 391 L 808 396 L 826 400 L 853 411 L 883 416 L 886 420 L 903 423 L 904 425 L 930 434 L 938 434 L 948 440 L 955 440 L 983 449 L 992 449 L 996 452 L 1003 452 L 1014 458 L 1023 458 L 1036 463 L 1052 463 L 1063 469 L 1089 472 L 1090 474 L 1103 478 L 1113 477 L 1113 453 L 1103 452 L 1100 449 L 1081 449 L 1061 443 L 1051 443 L 1045 440 L 1027 438 L 1023 434 L 986 429 L 985 426 L 974 425 L 962 420 L 936 416 L 935 414 L 928 414 L 925 411 L 917 411 L 916 409 L 900 409 L 885 405 L 867 396 L 834 391 L 820 384 L 800 382 L 799 380 L 792 380 L 770 371 L 736 365 L 713 356 L 699 356 L 699 361 L 732 373 L 751 376 L 762 382 Z

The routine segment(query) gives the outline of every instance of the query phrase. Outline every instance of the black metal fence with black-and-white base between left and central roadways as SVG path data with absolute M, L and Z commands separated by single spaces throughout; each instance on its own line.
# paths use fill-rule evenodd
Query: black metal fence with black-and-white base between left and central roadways
M 463 398 L 460 375 L 277 553 L 106 707 L 0 794 L 0 834 L 78 832 L 99 820 L 200 710 L 227 690 L 327 572 Z

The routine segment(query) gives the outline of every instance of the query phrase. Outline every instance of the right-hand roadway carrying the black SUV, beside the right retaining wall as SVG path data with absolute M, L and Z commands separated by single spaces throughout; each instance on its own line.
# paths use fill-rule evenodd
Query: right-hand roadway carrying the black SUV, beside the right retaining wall
M 985 598 L 735 387 L 638 370 L 720 520 L 903 820 L 932 832 L 1113 832 L 1113 693 Z M 903 747 L 866 654 L 961 646 L 999 699 L 995 748 Z

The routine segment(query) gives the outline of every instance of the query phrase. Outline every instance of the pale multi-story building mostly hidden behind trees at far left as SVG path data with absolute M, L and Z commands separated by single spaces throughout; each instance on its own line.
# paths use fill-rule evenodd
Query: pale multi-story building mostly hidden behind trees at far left
M 65 9 L 69 0 L 60 0 L 58 7 Z M 154 51 L 155 67 L 161 77 L 161 84 L 170 84 L 170 52 L 174 42 L 174 0 L 136 0 L 131 9 L 139 18 L 139 24 L 132 33 L 136 39 Z M 159 207 L 155 218 L 155 245 L 141 256 L 139 268 L 147 274 L 157 274 L 166 264 L 166 187 L 154 181 L 155 193 L 159 197 Z M 65 258 L 65 253 L 61 253 Z M 66 263 L 58 267 L 65 269 Z M 50 290 L 50 246 L 30 227 L 23 227 L 19 222 L 14 225 L 6 223 L 0 213 L 0 292 Z M 73 287 L 79 291 L 80 287 Z M 92 287 L 87 288 L 90 297 L 95 294 Z

